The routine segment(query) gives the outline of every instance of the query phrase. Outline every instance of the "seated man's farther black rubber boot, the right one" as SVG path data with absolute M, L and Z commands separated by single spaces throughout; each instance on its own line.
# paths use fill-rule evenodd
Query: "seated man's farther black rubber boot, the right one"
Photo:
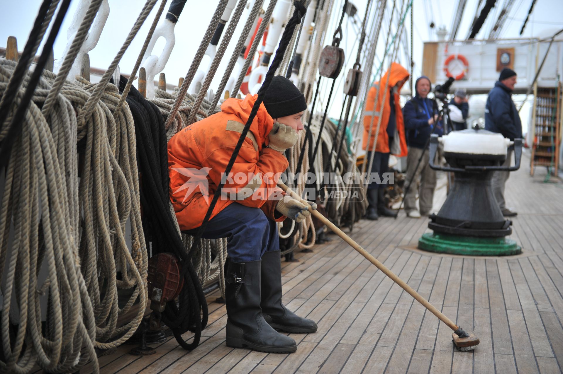
M 311 319 L 301 318 L 282 304 L 282 263 L 280 251 L 262 255 L 262 314 L 276 330 L 309 334 L 317 330 Z

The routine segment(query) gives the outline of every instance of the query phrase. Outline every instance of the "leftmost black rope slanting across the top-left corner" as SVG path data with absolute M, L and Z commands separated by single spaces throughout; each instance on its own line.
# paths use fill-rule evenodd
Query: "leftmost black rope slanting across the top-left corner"
M 0 129 L 2 129 L 4 121 L 8 117 L 10 108 L 16 100 L 16 92 L 19 91 L 21 82 L 25 78 L 25 74 L 28 72 L 29 65 L 33 59 L 32 49 L 39 38 L 39 33 L 41 33 L 42 25 L 45 20 L 45 16 L 51 7 L 53 0 L 43 0 L 41 7 L 39 7 L 39 12 L 37 17 L 35 17 L 35 22 L 33 22 L 32 31 L 29 33 L 28 41 L 25 43 L 24 51 L 21 53 L 21 57 L 17 62 L 14 73 L 12 73 L 12 78 L 6 91 L 4 92 L 4 102 L 0 107 Z

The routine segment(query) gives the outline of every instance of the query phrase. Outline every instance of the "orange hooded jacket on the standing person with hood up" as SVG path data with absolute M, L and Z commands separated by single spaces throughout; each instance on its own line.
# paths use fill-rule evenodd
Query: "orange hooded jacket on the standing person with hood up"
M 369 89 L 368 98 L 365 105 L 365 115 L 364 115 L 364 141 L 363 149 L 367 151 L 373 150 L 373 142 L 376 138 L 377 132 L 377 122 L 379 120 L 379 115 L 381 113 L 381 103 L 383 101 L 383 94 L 385 93 L 385 85 L 387 82 L 387 77 L 389 77 L 389 85 L 387 87 L 387 95 L 385 97 L 385 103 L 383 105 L 383 117 L 381 119 L 381 125 L 379 126 L 379 134 L 377 137 L 376 152 L 388 153 L 389 150 L 389 137 L 387 135 L 387 124 L 389 123 L 389 115 L 391 114 L 391 105 L 389 103 L 389 95 L 391 93 L 391 88 L 394 87 L 401 80 L 409 77 L 409 72 L 401 65 L 396 62 L 391 63 L 391 69 L 386 71 L 383 75 L 381 82 L 376 82 Z M 403 84 L 400 84 L 395 95 L 395 118 L 397 121 L 397 133 L 399 134 L 399 143 L 401 145 L 401 153 L 396 156 L 404 157 L 407 154 L 406 150 L 406 137 L 405 137 L 405 124 L 403 121 L 403 111 L 401 110 L 401 102 L 399 93 L 401 91 Z M 377 106 L 374 112 L 374 103 L 376 102 L 377 93 Z M 373 124 L 372 124 L 372 116 Z M 372 133 L 369 136 L 369 125 L 372 124 Z M 369 140 L 369 141 L 368 141 Z M 369 146 L 369 148 L 367 148 Z

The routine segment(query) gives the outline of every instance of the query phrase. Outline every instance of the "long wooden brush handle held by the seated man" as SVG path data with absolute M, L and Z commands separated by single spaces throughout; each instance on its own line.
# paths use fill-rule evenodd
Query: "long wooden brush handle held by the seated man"
M 300 200 L 304 204 L 307 204 L 308 206 L 310 206 L 307 201 L 301 199 L 301 196 L 299 196 L 299 195 L 297 195 L 297 193 L 293 192 L 291 190 L 291 188 L 289 188 L 288 186 L 285 186 L 284 183 L 278 182 L 278 186 L 280 188 L 282 188 L 282 190 L 284 190 L 285 193 L 288 193 L 289 196 L 293 197 L 293 199 Z M 395 275 L 395 273 L 393 273 L 392 271 L 387 269 L 387 267 L 385 265 L 383 265 L 381 262 L 379 262 L 374 256 L 370 255 L 368 253 L 368 251 L 363 249 L 358 243 L 356 243 L 354 240 L 352 240 L 351 237 L 347 236 L 341 229 L 336 227 L 336 225 L 334 223 L 330 222 L 326 217 L 324 217 L 324 215 L 320 214 L 318 211 L 313 210 L 311 208 L 309 208 L 309 211 L 311 212 L 312 215 L 314 215 L 316 218 L 321 220 L 321 222 L 323 222 L 325 225 L 327 225 L 328 228 L 330 228 L 334 233 L 336 233 L 339 237 L 341 237 L 345 242 L 350 244 L 350 246 L 352 248 L 354 248 L 362 256 L 364 256 L 366 259 L 368 259 L 368 261 L 370 263 L 376 265 L 376 267 L 379 270 L 381 270 L 383 273 L 385 273 L 385 275 L 387 277 L 391 278 L 395 283 L 397 283 L 397 285 L 401 286 L 401 288 L 403 288 L 403 290 L 408 292 L 410 296 L 413 296 L 413 298 L 415 300 L 417 300 L 419 303 L 424 305 L 424 307 L 426 309 L 430 310 L 430 312 L 432 312 L 432 314 L 434 314 L 434 316 L 440 318 L 440 320 L 442 322 L 444 322 L 446 325 L 448 325 L 449 328 L 451 328 L 453 331 L 458 330 L 459 327 L 457 325 L 455 325 L 455 323 L 453 323 L 448 317 L 444 316 L 444 314 L 442 312 L 440 312 L 440 310 L 436 309 L 436 307 L 434 307 L 434 305 L 430 304 L 428 302 L 428 300 L 426 300 L 421 295 L 419 295 L 417 291 L 413 290 L 412 287 L 407 285 L 403 280 L 401 280 L 401 278 L 397 277 Z

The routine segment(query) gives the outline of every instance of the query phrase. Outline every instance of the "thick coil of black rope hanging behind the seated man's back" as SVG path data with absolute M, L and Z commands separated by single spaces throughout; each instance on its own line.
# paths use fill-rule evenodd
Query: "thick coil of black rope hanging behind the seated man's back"
M 121 92 L 126 84 L 127 79 L 122 75 L 119 84 Z M 170 198 L 164 117 L 158 107 L 145 100 L 135 87 L 131 87 L 127 103 L 135 122 L 137 164 L 141 174 L 142 226 L 146 246 L 151 248 L 152 255 L 164 252 L 176 255 L 180 259 L 184 278 L 178 304 L 176 300 L 169 301 L 160 318 L 172 330 L 178 344 L 184 349 L 192 350 L 198 346 L 202 330 L 207 325 L 207 301 L 168 209 Z M 181 337 L 186 331 L 195 334 L 191 344 L 187 344 Z

